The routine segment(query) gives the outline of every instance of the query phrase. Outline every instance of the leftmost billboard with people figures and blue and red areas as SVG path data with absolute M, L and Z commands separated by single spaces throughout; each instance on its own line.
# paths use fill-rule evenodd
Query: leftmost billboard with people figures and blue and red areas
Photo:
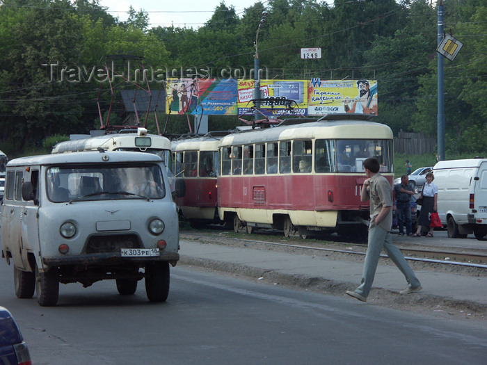
M 237 80 L 168 79 L 167 114 L 237 115 Z

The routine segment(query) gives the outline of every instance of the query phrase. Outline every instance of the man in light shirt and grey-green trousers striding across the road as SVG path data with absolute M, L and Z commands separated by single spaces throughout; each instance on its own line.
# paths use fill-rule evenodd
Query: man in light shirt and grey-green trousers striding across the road
M 367 296 L 369 296 L 372 282 L 374 282 L 382 249 L 385 250 L 408 281 L 408 287 L 400 291 L 400 293 L 409 294 L 420 291 L 422 289 L 420 281 L 413 273 L 406 259 L 404 259 L 401 250 L 392 244 L 392 236 L 390 234 L 392 226 L 392 187 L 389 181 L 378 173 L 381 165 L 377 159 L 366 159 L 363 162 L 363 167 L 367 179 L 364 181 L 360 200 L 362 202 L 370 200 L 369 242 L 367 253 L 365 254 L 362 282 L 355 291 L 346 291 L 346 294 L 362 302 L 367 302 Z

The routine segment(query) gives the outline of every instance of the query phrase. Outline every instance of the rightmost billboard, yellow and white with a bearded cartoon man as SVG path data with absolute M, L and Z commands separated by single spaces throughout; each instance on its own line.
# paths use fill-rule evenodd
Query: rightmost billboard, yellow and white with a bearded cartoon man
M 336 113 L 377 115 L 377 81 L 311 79 L 308 115 Z

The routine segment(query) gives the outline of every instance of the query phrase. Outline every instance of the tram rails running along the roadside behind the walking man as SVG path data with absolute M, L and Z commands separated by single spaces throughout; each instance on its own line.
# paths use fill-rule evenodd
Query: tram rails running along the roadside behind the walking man
M 193 236 L 198 238 L 209 238 L 215 239 L 214 235 L 211 234 L 201 234 L 201 233 L 189 233 L 184 232 L 184 236 Z M 343 245 L 347 246 L 344 248 L 326 248 L 326 247 L 317 247 L 316 245 L 303 245 L 299 243 L 279 243 L 279 242 L 271 242 L 271 241 L 260 241 L 260 240 L 253 240 L 248 238 L 230 238 L 227 237 L 225 240 L 232 240 L 234 242 L 241 242 L 244 244 L 252 244 L 252 245 L 269 245 L 276 248 L 287 248 L 287 249 L 298 249 L 298 250 L 310 250 L 316 252 L 330 252 L 330 253 L 337 253 L 337 254 L 349 254 L 354 256 L 365 256 L 365 250 L 367 245 L 360 245 L 357 243 L 337 243 L 334 242 L 333 245 Z M 352 246 L 356 246 L 353 249 Z M 360 250 L 359 248 L 363 248 Z M 445 266 L 463 266 L 463 267 L 470 267 L 470 268 L 487 268 L 487 254 L 477 253 L 477 252 L 461 252 L 461 251 L 454 251 L 454 250 L 431 250 L 431 249 L 422 249 L 422 248 L 406 248 L 401 247 L 399 245 L 401 252 L 403 252 L 404 257 L 406 260 L 410 261 L 421 261 L 424 263 L 431 263 L 431 264 L 442 264 Z M 381 254 L 381 257 L 387 258 L 387 254 Z

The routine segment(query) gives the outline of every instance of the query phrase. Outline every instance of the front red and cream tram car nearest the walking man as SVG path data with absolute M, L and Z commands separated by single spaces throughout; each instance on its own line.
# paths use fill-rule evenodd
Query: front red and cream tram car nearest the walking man
M 279 127 L 232 133 L 218 145 L 218 214 L 246 227 L 302 237 L 320 231 L 367 234 L 360 202 L 362 162 L 376 157 L 392 183 L 392 131 L 368 115 L 285 120 Z

